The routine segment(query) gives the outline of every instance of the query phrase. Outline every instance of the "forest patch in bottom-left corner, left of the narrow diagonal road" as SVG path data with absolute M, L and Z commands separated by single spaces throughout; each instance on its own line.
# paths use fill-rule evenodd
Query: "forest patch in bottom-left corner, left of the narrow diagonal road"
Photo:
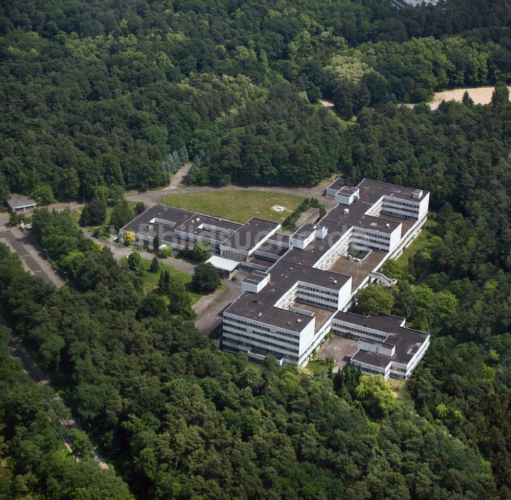
M 47 388 L 31 381 L 11 358 L 9 336 L 9 329 L 0 326 L 0 497 L 133 500 L 112 470 L 101 470 L 85 456 L 76 461 L 67 455 L 56 418 L 59 408 L 50 402 Z

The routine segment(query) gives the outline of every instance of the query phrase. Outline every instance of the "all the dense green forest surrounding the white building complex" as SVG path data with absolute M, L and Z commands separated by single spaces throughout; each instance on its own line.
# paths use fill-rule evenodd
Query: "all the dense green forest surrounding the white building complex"
M 138 498 L 510 498 L 511 4 L 296 4 L 2 3 L 0 200 L 150 189 L 187 157 L 197 185 L 341 171 L 429 190 L 425 244 L 357 305 L 432 334 L 400 398 L 356 370 L 219 351 L 68 212 L 37 211 L 33 232 L 73 287 L 0 245 L 0 310 Z M 486 106 L 397 104 L 496 83 Z M 64 460 L 1 334 L 1 494 L 96 499 L 103 481 L 130 498 Z

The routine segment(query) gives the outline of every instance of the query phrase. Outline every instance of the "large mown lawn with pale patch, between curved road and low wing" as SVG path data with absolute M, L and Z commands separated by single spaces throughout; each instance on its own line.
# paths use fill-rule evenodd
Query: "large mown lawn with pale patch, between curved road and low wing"
M 218 191 L 166 195 L 161 202 L 169 207 L 192 210 L 204 215 L 245 223 L 251 217 L 282 222 L 304 198 L 264 191 Z M 271 207 L 284 207 L 276 212 Z

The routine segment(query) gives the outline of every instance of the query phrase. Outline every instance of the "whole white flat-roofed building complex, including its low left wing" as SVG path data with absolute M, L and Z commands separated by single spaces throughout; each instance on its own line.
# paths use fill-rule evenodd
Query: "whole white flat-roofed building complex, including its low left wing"
M 281 364 L 303 366 L 332 330 L 358 339 L 351 362 L 363 373 L 407 378 L 428 348 L 429 335 L 405 328 L 405 320 L 393 316 L 369 316 L 363 324 L 371 326 L 360 326 L 360 316 L 343 311 L 368 283 L 395 283 L 379 269 L 421 231 L 429 193 L 370 179 L 351 187 L 337 178 L 326 195 L 335 207 L 291 236 L 279 232 L 280 224 L 257 217 L 239 224 L 160 204 L 119 236 L 133 231 L 139 244 L 152 248 L 158 234 L 161 245 L 174 252 L 202 240 L 210 243 L 211 262 L 219 270 L 252 271 L 240 297 L 223 312 L 227 351 L 245 351 L 257 363 L 272 354 Z

